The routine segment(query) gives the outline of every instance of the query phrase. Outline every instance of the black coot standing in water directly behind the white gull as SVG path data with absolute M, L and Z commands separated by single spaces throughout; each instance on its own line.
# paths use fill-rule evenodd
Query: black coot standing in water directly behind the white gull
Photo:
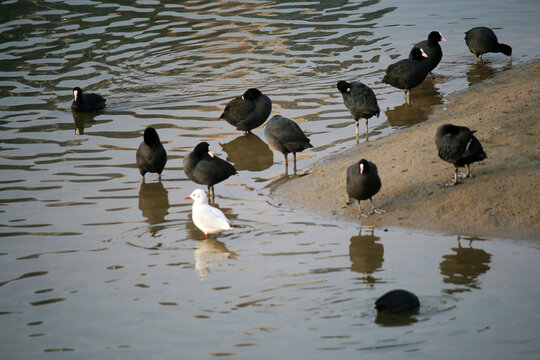
M 234 166 L 210 151 L 207 142 L 201 142 L 184 158 L 184 172 L 197 184 L 207 185 L 214 200 L 214 185 L 236 174 Z

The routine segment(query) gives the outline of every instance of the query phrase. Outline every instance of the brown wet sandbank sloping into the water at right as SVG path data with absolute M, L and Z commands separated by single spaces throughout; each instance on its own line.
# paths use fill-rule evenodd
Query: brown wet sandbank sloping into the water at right
M 422 124 L 313 164 L 307 175 L 277 187 L 274 199 L 362 225 L 540 240 L 539 80 L 539 60 L 514 65 L 452 95 Z M 477 130 L 488 158 L 472 164 L 472 178 L 441 188 L 453 175 L 435 147 L 444 123 Z M 377 164 L 383 185 L 373 200 L 386 210 L 367 219 L 343 208 L 346 169 L 361 158 Z M 362 206 L 371 209 L 369 201 Z

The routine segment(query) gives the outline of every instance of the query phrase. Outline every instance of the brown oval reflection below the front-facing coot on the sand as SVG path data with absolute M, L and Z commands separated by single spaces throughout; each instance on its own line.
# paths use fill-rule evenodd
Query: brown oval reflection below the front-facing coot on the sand
M 363 281 L 374 284 L 376 279 L 371 275 L 382 267 L 384 261 L 384 246 L 378 241 L 379 236 L 374 235 L 374 229 L 366 229 L 362 234 L 351 237 L 349 245 L 349 259 L 351 271 L 363 274 Z

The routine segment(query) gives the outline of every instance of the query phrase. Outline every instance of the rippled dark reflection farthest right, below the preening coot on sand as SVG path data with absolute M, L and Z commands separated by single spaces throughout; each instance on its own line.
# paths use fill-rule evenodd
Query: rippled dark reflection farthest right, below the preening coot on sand
M 439 268 L 443 275 L 443 282 L 454 284 L 457 287 L 443 290 L 447 294 L 480 289 L 478 277 L 485 274 L 489 269 L 491 254 L 482 249 L 474 249 L 472 242 L 479 238 L 467 238 L 468 247 L 461 246 L 461 238 L 458 236 L 458 247 L 452 248 L 453 253 L 443 255 L 443 261 Z

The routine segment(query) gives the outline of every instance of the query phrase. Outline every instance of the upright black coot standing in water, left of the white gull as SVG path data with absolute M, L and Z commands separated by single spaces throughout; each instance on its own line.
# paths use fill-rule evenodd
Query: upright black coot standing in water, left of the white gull
M 167 152 L 161 141 L 159 135 L 153 127 L 147 127 L 144 130 L 143 142 L 137 149 L 137 166 L 144 181 L 144 175 L 149 173 L 158 173 L 161 180 L 161 172 L 165 168 L 167 163 Z

